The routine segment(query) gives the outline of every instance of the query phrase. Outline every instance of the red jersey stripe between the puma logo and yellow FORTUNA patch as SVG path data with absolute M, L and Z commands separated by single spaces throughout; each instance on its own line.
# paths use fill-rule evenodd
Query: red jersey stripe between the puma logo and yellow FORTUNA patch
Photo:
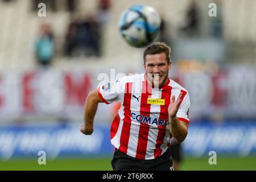
M 140 114 L 143 117 L 145 116 L 150 117 L 151 105 L 147 104 L 147 98 L 151 97 L 151 87 L 148 86 L 148 89 L 147 89 L 147 80 L 145 79 L 145 81 L 142 82 L 141 108 L 140 108 Z M 136 158 L 145 159 L 146 157 L 149 130 L 150 130 L 149 125 L 147 125 L 146 123 L 140 123 Z

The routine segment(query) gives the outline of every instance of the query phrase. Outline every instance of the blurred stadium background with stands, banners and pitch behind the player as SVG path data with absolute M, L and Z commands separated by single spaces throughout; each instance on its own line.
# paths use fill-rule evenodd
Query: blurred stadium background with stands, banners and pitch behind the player
M 143 49 L 118 32 L 122 11 L 137 3 L 162 16 L 158 40 L 172 47 L 170 77 L 191 97 L 181 169 L 256 170 L 254 0 L 1 0 L 1 170 L 112 170 L 117 105 L 98 107 L 93 135 L 79 129 L 100 73 L 113 79 L 143 72 Z M 216 3 L 216 17 L 208 15 L 209 3 Z M 38 164 L 39 151 L 46 151 L 46 165 Z M 208 163 L 209 151 L 217 152 L 216 165 Z

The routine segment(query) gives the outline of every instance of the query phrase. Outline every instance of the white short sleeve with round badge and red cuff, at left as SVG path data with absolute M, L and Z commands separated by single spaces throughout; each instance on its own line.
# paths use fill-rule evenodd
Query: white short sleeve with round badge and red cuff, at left
M 110 104 L 112 102 L 121 101 L 122 88 L 122 82 L 118 79 L 99 86 L 97 90 L 101 100 L 106 104 Z

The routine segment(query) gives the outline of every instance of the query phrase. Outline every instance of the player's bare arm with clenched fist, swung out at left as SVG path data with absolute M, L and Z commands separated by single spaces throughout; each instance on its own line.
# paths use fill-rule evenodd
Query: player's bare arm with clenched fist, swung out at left
M 98 108 L 98 103 L 104 102 L 98 96 L 97 90 L 93 90 L 88 94 L 84 106 L 84 125 L 81 126 L 80 131 L 85 135 L 93 133 L 93 120 Z

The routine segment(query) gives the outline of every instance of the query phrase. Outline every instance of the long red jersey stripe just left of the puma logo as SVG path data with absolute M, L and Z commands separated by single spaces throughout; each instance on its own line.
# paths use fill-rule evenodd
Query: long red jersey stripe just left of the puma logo
M 131 89 L 133 86 L 133 82 L 128 82 L 125 85 L 125 96 L 123 98 L 123 109 L 125 118 L 123 118 L 123 126 L 120 137 L 120 146 L 118 150 L 127 153 L 127 147 L 130 137 L 130 129 L 131 129 Z

